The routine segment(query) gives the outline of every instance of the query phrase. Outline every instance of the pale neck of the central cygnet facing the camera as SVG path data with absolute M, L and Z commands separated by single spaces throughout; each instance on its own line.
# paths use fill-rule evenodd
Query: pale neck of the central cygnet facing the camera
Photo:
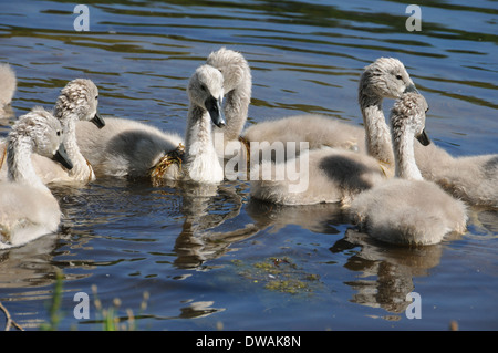
M 204 108 L 190 104 L 185 136 L 185 167 L 196 181 L 219 181 L 222 169 L 212 143 L 211 120 Z

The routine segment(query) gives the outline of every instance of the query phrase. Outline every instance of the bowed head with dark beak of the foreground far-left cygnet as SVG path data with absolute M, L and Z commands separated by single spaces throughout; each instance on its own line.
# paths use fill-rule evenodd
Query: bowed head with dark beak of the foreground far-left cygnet
M 32 144 L 32 152 L 61 163 L 65 168 L 73 167 L 63 144 L 64 133 L 59 120 L 43 107 L 33 107 L 19 117 L 12 126 L 9 139 L 25 138 Z

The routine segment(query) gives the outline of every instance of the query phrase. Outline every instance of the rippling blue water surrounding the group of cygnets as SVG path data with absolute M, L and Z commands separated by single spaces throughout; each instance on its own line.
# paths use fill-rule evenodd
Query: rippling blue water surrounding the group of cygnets
M 2 1 L 0 61 L 18 74 L 17 115 L 87 77 L 104 116 L 183 134 L 187 80 L 222 45 L 252 69 L 248 124 L 301 113 L 360 124 L 362 68 L 396 56 L 429 102 L 436 144 L 497 153 L 496 2 L 424 2 L 421 32 L 405 28 L 409 3 L 95 1 L 90 31 L 76 32 L 75 3 Z M 101 330 L 94 303 L 115 298 L 116 315 L 127 324 L 132 309 L 138 330 L 498 329 L 496 210 L 473 210 L 458 239 L 400 249 L 355 241 L 334 205 L 270 207 L 242 181 L 211 198 L 194 191 L 112 178 L 54 188 L 62 230 L 0 253 L 0 301 L 38 330 L 60 270 L 61 330 Z M 77 292 L 89 294 L 87 320 L 73 315 Z M 409 292 L 421 294 L 421 319 L 406 315 Z

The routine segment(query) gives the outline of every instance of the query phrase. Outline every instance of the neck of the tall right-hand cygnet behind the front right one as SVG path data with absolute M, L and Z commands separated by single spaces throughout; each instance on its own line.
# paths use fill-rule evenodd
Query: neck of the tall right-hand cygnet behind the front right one
M 369 155 L 388 164 L 394 163 L 391 134 L 382 111 L 382 97 L 360 92 L 360 106 L 365 128 Z

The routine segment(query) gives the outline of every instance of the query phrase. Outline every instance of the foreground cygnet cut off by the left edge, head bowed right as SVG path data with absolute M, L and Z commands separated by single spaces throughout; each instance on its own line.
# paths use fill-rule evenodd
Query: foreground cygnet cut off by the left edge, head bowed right
M 8 137 L 9 180 L 0 183 L 0 249 L 18 247 L 56 231 L 61 211 L 37 176 L 31 154 L 53 157 L 63 143 L 59 121 L 33 108 L 12 126 Z

